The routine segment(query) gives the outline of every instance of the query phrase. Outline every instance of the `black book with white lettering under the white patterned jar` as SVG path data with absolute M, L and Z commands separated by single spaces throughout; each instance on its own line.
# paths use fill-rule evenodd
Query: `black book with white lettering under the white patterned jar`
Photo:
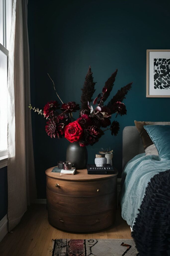
M 87 174 L 114 174 L 114 167 L 110 164 L 106 164 L 102 167 L 96 167 L 95 164 L 87 165 Z

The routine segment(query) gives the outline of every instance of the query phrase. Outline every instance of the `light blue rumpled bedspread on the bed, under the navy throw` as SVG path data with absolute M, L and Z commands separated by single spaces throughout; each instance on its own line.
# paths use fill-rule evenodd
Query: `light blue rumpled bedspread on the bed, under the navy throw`
M 170 161 L 159 161 L 156 155 L 139 154 L 130 160 L 122 173 L 121 190 L 122 218 L 133 228 L 145 189 L 150 179 L 170 169 Z

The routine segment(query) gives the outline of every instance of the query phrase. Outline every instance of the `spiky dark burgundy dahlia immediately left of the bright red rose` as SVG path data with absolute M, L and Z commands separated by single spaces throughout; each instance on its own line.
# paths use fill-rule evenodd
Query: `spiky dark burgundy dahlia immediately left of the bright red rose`
M 59 139 L 59 137 L 64 134 L 63 127 L 64 123 L 61 123 L 60 119 L 57 116 L 57 118 L 53 117 L 48 120 L 47 125 L 45 126 L 45 131 L 51 138 L 57 137 Z

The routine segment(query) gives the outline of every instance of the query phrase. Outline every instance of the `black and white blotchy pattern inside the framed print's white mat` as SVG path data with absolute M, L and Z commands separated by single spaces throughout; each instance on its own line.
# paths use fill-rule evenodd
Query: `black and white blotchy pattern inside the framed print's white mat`
M 154 59 L 154 89 L 170 88 L 170 59 Z

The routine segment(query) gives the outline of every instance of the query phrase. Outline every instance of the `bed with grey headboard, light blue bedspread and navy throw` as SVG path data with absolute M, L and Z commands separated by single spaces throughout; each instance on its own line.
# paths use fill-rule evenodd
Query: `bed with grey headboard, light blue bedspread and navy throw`
M 170 161 L 159 161 L 156 155 L 145 156 L 136 126 L 126 126 L 122 168 L 122 217 L 133 229 L 140 255 L 170 255 Z

